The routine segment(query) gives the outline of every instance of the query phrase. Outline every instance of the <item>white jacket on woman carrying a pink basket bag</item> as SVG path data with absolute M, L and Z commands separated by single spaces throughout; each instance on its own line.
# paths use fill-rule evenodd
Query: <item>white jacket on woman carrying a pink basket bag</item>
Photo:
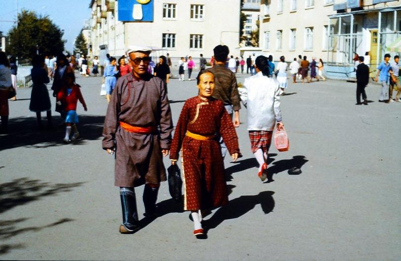
M 248 112 L 248 130 L 272 131 L 281 121 L 280 87 L 273 77 L 258 72 L 245 78 L 244 87 L 238 88 L 242 103 Z

